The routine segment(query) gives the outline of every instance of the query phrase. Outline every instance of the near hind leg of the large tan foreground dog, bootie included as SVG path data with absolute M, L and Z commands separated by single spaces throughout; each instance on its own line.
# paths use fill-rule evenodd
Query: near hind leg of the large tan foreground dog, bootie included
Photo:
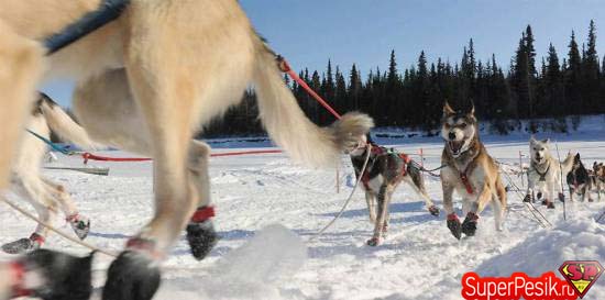
M 202 99 L 199 82 L 177 81 L 188 78 L 187 71 L 180 69 L 185 66 L 178 63 L 178 52 L 166 52 L 153 43 L 131 45 L 130 51 L 133 53 L 127 62 L 129 82 L 147 125 L 153 151 L 155 215 L 111 264 L 103 300 L 153 298 L 161 281 L 160 263 L 197 205 L 187 159 L 195 115 L 191 108 L 197 108 L 195 101 Z M 162 59 L 157 60 L 158 57 Z

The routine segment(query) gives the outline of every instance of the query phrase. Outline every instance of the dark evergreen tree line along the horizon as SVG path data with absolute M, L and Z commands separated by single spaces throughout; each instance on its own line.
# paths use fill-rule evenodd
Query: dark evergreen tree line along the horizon
M 605 113 L 605 57 L 600 59 L 596 51 L 594 21 L 581 46 L 572 31 L 564 55 L 550 44 L 547 56 L 538 59 L 534 42 L 528 25 L 507 69 L 495 55 L 477 59 L 470 40 L 461 60 L 453 64 L 441 58 L 429 64 L 422 51 L 416 65 L 400 71 L 392 51 L 388 69 L 376 67 L 365 78 L 356 64 L 343 70 L 331 60 L 326 70 L 305 68 L 299 77 L 339 112 L 363 111 L 377 126 L 414 127 L 428 135 L 439 130 L 444 100 L 460 109 L 473 103 L 479 118 L 499 134 L 515 130 L 568 132 L 570 125 L 578 127 L 581 115 Z M 314 122 L 333 122 L 333 116 L 297 82 L 286 76 L 284 80 Z M 202 136 L 264 134 L 257 112 L 250 89 L 242 103 L 212 121 Z

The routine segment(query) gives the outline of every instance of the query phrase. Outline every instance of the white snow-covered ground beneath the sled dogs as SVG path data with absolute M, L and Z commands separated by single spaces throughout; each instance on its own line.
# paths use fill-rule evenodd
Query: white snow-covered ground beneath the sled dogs
M 554 137 L 562 141 L 561 155 L 579 151 L 584 163 L 592 166 L 593 160 L 605 160 L 605 129 L 598 120 L 585 129 Z M 484 140 L 488 152 L 503 163 L 518 164 L 519 151 L 528 151 L 527 136 Z M 442 143 L 438 137 L 378 141 L 415 155 L 422 148 L 428 167 L 440 165 Z M 234 149 L 217 152 L 226 151 Z M 548 270 L 558 274 L 564 260 L 605 263 L 605 225 L 594 221 L 605 208 L 605 198 L 603 202 L 570 203 L 568 221 L 563 221 L 561 203 L 556 210 L 539 207 L 553 224 L 544 230 L 531 219 L 518 193 L 510 191 L 504 232 L 494 230 L 487 209 L 476 236 L 458 241 L 446 227 L 443 213 L 439 218 L 429 215 L 419 197 L 402 186 L 391 207 L 385 243 L 370 247 L 365 241 L 373 226 L 363 193 L 358 190 L 342 218 L 317 237 L 315 233 L 336 215 L 354 185 L 348 158 L 343 156 L 342 163 L 337 193 L 334 169 L 308 169 L 283 154 L 212 158 L 212 201 L 221 240 L 207 259 L 196 262 L 182 238 L 164 264 L 164 281 L 156 299 L 462 299 L 460 281 L 466 271 L 501 277 L 526 271 L 538 276 Z M 59 156 L 53 165 L 80 164 L 79 159 Z M 87 242 L 119 251 L 152 215 L 151 163 L 95 165 L 109 167 L 110 175 L 66 170 L 45 174 L 66 186 L 81 213 L 91 218 Z M 524 185 L 519 177 L 513 179 Z M 427 188 L 442 207 L 440 182 L 427 177 Z M 33 222 L 7 205 L 0 205 L 0 243 L 28 236 L 34 227 Z M 65 223 L 59 227 L 69 232 Z M 47 247 L 88 253 L 56 234 L 48 238 Z M 0 254 L 0 260 L 7 259 L 9 255 Z M 97 256 L 96 287 L 102 286 L 110 260 Z M 605 299 L 605 279 L 601 278 L 584 299 Z

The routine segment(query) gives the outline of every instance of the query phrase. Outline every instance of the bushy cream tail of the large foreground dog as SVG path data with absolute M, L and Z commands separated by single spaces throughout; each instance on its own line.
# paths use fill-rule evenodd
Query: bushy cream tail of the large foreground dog
M 261 120 L 272 140 L 295 160 L 334 166 L 338 155 L 370 132 L 374 121 L 359 112 L 346 113 L 327 127 L 314 124 L 284 84 L 275 56 L 264 45 L 256 51 L 254 84 Z M 340 160 L 339 160 L 340 162 Z

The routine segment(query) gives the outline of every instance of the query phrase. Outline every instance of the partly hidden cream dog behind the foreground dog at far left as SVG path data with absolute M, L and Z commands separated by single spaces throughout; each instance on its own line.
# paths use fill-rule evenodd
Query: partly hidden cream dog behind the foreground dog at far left
M 94 148 L 96 146 L 86 132 L 44 93 L 38 96 L 32 110 L 32 116 L 28 122 L 28 129 L 45 138 L 50 138 L 50 130 L 53 130 L 80 147 Z M 45 153 L 46 144 L 24 132 L 11 169 L 11 190 L 30 202 L 40 219 L 46 223 L 52 223 L 57 210 L 61 210 L 76 235 L 84 240 L 90 230 L 90 221 L 87 216 L 78 213 L 76 203 L 63 186 L 40 174 L 40 165 Z M 30 237 L 4 244 L 2 251 L 10 254 L 31 252 L 42 246 L 47 234 L 48 229 L 38 224 Z

